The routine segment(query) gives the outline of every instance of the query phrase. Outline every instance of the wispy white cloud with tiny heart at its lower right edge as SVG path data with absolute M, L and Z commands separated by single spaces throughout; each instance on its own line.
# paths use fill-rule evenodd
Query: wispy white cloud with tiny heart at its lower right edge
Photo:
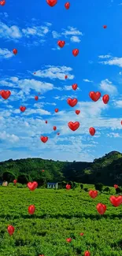
M 68 76 L 69 80 L 72 80 L 74 78 L 73 75 L 70 75 L 69 72 L 72 71 L 72 68 L 66 67 L 66 66 L 46 66 L 46 69 L 38 70 L 35 73 L 35 76 L 43 77 L 43 78 L 50 78 L 51 80 L 59 79 L 59 80 L 65 80 L 65 75 Z

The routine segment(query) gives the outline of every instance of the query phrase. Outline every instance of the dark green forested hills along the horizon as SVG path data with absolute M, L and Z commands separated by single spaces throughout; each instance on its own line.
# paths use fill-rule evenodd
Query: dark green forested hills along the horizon
M 44 172 L 43 172 L 44 170 Z M 108 186 L 122 185 L 122 154 L 112 151 L 92 163 L 83 161 L 53 161 L 27 158 L 0 162 L 0 179 L 26 184 L 36 180 L 39 184 L 51 181 L 76 181 L 79 183 L 102 183 Z

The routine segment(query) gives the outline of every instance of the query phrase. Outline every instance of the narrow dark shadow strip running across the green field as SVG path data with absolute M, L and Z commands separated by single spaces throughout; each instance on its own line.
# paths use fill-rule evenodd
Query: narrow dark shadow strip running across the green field
M 96 214 L 81 214 L 81 213 L 77 213 L 77 214 L 40 214 L 40 215 L 36 215 L 36 214 L 33 214 L 33 215 L 29 215 L 29 214 L 21 214 L 20 216 L 14 216 L 12 214 L 0 214 L 0 219 L 3 218 L 3 219 L 13 219 L 13 220 L 16 220 L 16 219 L 19 219 L 19 218 L 23 218 L 24 220 L 25 219 L 58 219 L 58 218 L 65 218 L 65 219 L 72 219 L 73 217 L 76 217 L 76 218 L 85 218 L 85 219 L 91 219 L 91 220 L 100 220 L 102 218 L 104 219 L 116 219 L 116 218 L 119 218 L 119 219 L 122 219 L 122 214 L 107 214 L 105 213 L 104 215 L 98 215 L 97 213 Z

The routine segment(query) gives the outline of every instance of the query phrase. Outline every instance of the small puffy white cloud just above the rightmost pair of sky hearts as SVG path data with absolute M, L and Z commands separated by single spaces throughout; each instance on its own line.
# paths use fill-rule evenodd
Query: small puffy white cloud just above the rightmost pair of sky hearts
M 106 93 L 114 94 L 117 93 L 116 86 L 113 85 L 112 82 L 110 82 L 108 79 L 102 80 L 100 83 L 100 88 L 102 91 L 105 91 Z

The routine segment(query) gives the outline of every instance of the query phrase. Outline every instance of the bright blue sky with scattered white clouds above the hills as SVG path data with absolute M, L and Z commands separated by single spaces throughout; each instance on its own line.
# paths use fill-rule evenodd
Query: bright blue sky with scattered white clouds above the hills
M 6 0 L 0 6 L 0 89 L 11 91 L 7 100 L 0 98 L 0 161 L 93 161 L 111 150 L 121 151 L 122 2 L 70 4 L 68 10 L 63 0 L 53 8 L 45 0 Z M 62 49 L 58 40 L 65 40 Z M 72 90 L 73 83 L 78 90 Z M 93 102 L 90 91 L 108 94 L 109 103 L 102 98 Z M 77 98 L 77 105 L 68 106 L 67 98 Z M 24 113 L 20 106 L 26 106 Z M 79 121 L 76 132 L 68 128 L 69 121 Z M 96 130 L 94 136 L 90 127 Z M 47 143 L 41 135 L 49 137 Z

